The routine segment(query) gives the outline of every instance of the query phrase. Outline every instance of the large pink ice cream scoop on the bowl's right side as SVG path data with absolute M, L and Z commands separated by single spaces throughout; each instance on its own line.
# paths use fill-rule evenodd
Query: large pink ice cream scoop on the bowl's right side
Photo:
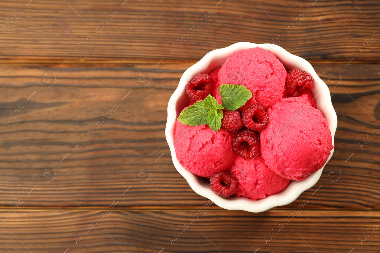
M 268 126 L 260 132 L 260 152 L 270 170 L 302 180 L 326 163 L 334 148 L 331 132 L 307 94 L 281 99 L 268 116 Z

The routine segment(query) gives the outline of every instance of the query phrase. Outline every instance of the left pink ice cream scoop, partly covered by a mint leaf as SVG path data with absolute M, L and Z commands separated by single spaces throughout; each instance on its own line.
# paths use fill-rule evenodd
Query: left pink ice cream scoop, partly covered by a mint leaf
M 179 163 L 197 176 L 210 178 L 226 171 L 236 158 L 233 136 L 223 128 L 215 132 L 207 125 L 187 126 L 177 120 L 173 138 Z

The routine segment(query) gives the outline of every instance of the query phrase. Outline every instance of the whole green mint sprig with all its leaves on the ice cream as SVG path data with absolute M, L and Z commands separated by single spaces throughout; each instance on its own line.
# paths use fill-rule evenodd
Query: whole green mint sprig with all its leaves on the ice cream
M 222 109 L 236 110 L 252 97 L 252 93 L 242 85 L 222 84 L 219 86 L 219 94 L 222 96 L 223 105 L 219 104 L 215 97 L 208 95 L 183 110 L 178 116 L 179 122 L 187 126 L 207 124 L 210 129 L 218 132 L 222 126 Z

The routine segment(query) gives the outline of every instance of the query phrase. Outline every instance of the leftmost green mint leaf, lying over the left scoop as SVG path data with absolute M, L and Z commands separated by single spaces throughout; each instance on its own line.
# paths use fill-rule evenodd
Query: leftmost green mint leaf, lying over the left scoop
M 178 116 L 180 123 L 187 126 L 200 126 L 207 123 L 209 110 L 204 107 L 204 100 L 198 101 L 183 110 Z

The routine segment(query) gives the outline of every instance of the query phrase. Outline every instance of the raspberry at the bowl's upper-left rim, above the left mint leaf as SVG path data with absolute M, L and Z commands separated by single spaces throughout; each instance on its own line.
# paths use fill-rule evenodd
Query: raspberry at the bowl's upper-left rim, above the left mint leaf
M 205 99 L 211 94 L 214 80 L 207 74 L 196 74 L 194 78 L 186 84 L 186 94 L 192 100 Z

